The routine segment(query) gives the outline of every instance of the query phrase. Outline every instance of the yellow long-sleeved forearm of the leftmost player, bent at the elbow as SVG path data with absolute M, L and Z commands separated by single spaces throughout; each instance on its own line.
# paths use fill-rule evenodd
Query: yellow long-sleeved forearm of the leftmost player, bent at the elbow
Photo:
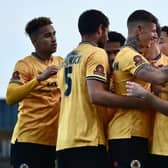
M 38 85 L 37 79 L 33 79 L 24 85 L 10 83 L 6 93 L 6 102 L 8 104 L 18 103 L 25 98 Z

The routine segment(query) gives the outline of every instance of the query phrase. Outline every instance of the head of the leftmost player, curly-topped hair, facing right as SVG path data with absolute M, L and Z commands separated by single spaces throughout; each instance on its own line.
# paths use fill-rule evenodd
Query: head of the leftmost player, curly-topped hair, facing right
M 36 52 L 41 54 L 52 54 L 56 51 L 57 43 L 55 29 L 48 17 L 38 17 L 29 21 L 25 27 Z

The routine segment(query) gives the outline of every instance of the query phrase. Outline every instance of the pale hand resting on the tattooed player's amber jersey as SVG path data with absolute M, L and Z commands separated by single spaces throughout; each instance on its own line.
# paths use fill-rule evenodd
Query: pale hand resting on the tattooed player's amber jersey
M 135 82 L 126 82 L 127 96 L 136 96 L 140 98 L 144 98 L 147 94 L 147 90 L 145 90 L 141 85 Z

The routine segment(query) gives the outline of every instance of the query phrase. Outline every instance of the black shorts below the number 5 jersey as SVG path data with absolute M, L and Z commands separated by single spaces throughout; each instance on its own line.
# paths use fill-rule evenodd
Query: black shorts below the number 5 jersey
M 65 149 L 57 152 L 59 168 L 107 168 L 105 146 L 87 146 Z

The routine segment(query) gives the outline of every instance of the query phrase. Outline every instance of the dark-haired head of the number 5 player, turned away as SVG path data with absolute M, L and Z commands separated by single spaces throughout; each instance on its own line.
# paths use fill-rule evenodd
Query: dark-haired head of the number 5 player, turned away
M 107 41 L 109 20 L 99 10 L 87 10 L 78 20 L 78 29 L 81 36 L 93 36 L 99 47 L 103 47 Z

